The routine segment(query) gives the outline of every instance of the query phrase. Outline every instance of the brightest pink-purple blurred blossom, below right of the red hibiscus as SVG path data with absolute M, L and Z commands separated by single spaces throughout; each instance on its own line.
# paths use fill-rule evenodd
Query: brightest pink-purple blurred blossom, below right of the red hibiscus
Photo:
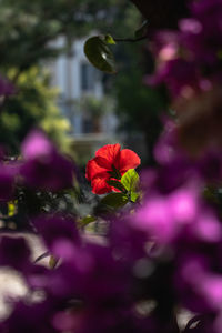
M 198 211 L 198 193 L 188 186 L 169 195 L 152 195 L 138 210 L 132 223 L 155 242 L 168 243 L 194 223 Z

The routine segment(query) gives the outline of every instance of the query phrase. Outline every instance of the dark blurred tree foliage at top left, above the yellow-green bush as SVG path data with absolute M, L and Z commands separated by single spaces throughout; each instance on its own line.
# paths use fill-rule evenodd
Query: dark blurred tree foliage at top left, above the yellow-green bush
M 2 0 L 0 2 L 0 63 L 20 72 L 51 59 L 60 50 L 50 43 L 59 36 L 74 40 L 92 29 L 115 29 L 125 18 L 122 0 Z M 69 48 L 69 43 L 68 43 Z

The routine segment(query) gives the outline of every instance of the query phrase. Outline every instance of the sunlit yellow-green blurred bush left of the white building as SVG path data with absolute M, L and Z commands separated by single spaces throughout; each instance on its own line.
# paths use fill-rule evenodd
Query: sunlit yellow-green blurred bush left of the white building
M 10 70 L 8 77 L 13 77 Z M 0 140 L 14 154 L 34 127 L 42 128 L 62 151 L 69 150 L 69 121 L 60 114 L 58 91 L 49 87 L 49 73 L 33 67 L 17 81 L 18 94 L 8 99 L 0 117 Z

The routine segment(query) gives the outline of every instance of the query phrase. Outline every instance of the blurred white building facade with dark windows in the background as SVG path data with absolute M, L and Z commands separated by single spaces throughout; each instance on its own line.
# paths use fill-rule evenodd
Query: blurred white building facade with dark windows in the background
M 71 44 L 69 52 L 61 53 L 50 63 L 52 85 L 59 88 L 59 107 L 70 120 L 74 138 L 89 135 L 113 137 L 117 128 L 117 118 L 107 112 L 98 118 L 82 107 L 82 100 L 91 97 L 95 100 L 104 98 L 103 73 L 93 68 L 84 56 L 84 41 L 77 40 Z M 64 48 L 65 39 L 60 37 L 56 47 Z M 99 123 L 99 128 L 94 123 Z M 93 139 L 93 137 L 91 138 Z M 108 139 L 109 140 L 109 139 Z

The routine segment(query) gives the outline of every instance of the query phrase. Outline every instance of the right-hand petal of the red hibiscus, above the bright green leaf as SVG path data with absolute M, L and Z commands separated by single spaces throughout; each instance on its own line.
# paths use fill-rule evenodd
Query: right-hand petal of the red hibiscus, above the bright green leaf
M 135 169 L 140 165 L 141 161 L 138 154 L 130 150 L 123 149 L 119 154 L 119 159 L 117 160 L 117 165 L 114 165 L 121 174 L 125 173 L 129 169 Z

